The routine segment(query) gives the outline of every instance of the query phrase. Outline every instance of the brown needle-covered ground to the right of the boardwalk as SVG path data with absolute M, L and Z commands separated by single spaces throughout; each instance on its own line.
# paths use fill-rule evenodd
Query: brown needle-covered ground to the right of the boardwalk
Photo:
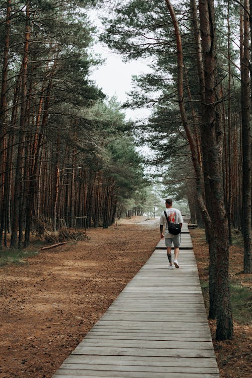
M 203 286 L 208 311 L 208 245 L 205 231 L 191 230 L 199 276 Z M 234 337 L 233 340 L 216 341 L 216 322 L 209 321 L 221 378 L 246 378 L 252 376 L 251 368 L 251 275 L 243 271 L 243 249 L 241 237 L 235 237 L 230 246 L 230 293 L 232 302 Z

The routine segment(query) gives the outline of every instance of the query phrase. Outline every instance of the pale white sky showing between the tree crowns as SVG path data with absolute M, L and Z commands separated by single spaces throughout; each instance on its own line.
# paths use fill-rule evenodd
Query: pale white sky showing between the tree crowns
M 97 11 L 90 11 L 90 19 L 97 27 L 96 43 L 92 50 L 105 58 L 102 66 L 95 68 L 90 78 L 95 81 L 103 92 L 112 97 L 116 95 L 121 104 L 127 100 L 127 92 L 130 92 L 132 85 L 132 75 L 150 72 L 150 68 L 142 60 L 123 62 L 120 54 L 109 49 L 108 46 L 102 45 L 98 40 L 98 35 L 102 33 L 103 27 L 97 17 Z M 136 120 L 138 118 L 147 118 L 150 115 L 150 109 L 123 109 L 126 119 Z

